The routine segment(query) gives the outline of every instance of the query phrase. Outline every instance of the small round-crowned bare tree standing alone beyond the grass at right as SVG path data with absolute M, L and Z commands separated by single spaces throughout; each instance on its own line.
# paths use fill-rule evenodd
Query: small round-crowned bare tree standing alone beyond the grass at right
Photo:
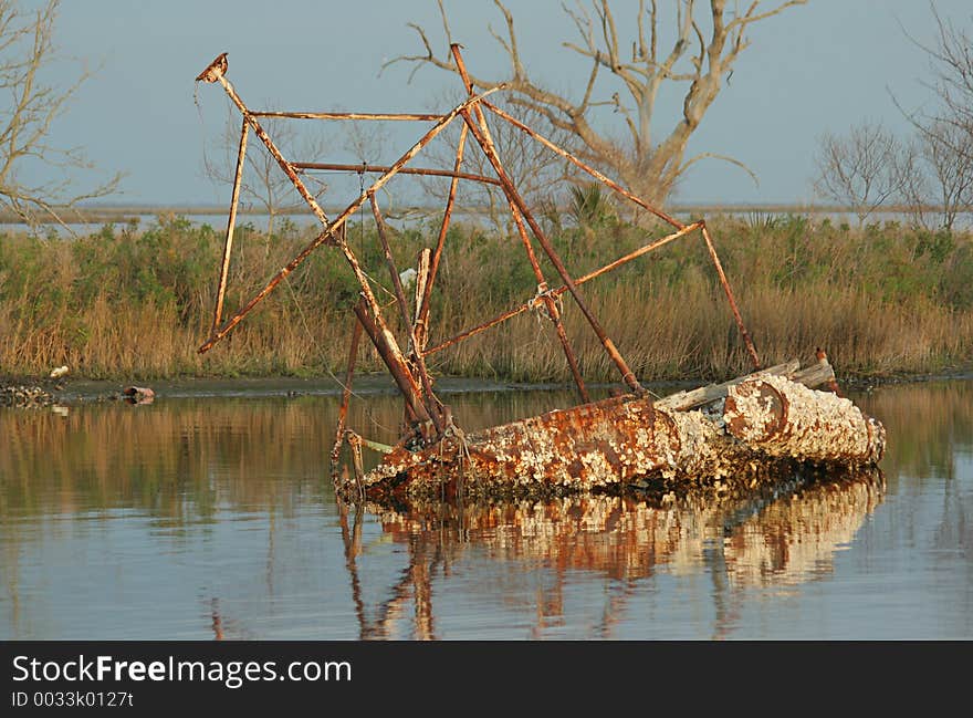
M 903 186 L 902 148 L 881 125 L 865 122 L 846 136 L 825 133 L 819 141 L 815 186 L 826 199 L 847 205 L 859 227 Z

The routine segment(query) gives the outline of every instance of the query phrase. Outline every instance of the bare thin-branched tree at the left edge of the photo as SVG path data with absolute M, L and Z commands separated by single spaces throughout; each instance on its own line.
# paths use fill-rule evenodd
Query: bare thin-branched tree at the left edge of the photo
M 76 170 L 92 170 L 81 148 L 61 148 L 49 142 L 54 121 L 91 75 L 83 70 L 67 89 L 45 84 L 44 67 L 56 59 L 54 23 L 60 0 L 48 0 L 35 11 L 15 0 L 0 0 L 0 207 L 24 222 L 44 218 L 64 225 L 64 210 L 84 199 L 104 197 L 118 186 L 121 174 L 85 191 L 73 189 Z M 39 174 L 36 181 L 25 174 Z

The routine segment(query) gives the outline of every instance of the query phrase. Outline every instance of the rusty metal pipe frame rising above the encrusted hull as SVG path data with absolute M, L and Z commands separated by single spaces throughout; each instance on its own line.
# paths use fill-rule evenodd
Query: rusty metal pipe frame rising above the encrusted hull
M 338 251 L 341 251 L 341 253 L 347 261 L 353 274 L 358 281 L 360 288 L 360 301 L 354 308 L 356 321 L 351 340 L 345 391 L 343 395 L 338 428 L 335 436 L 335 446 L 332 451 L 332 456 L 333 461 L 336 461 L 337 455 L 339 455 L 341 452 L 342 445 L 345 441 L 348 441 L 353 449 L 353 458 L 355 459 L 354 464 L 356 469 L 356 478 L 360 480 L 360 447 L 363 445 L 368 446 L 369 443 L 366 439 L 358 437 L 356 434 L 354 434 L 354 431 L 348 430 L 345 425 L 347 419 L 347 405 L 351 398 L 351 382 L 353 378 L 354 365 L 357 357 L 358 339 L 363 332 L 369 337 L 372 344 L 378 352 L 378 355 L 386 364 L 389 374 L 394 378 L 405 400 L 406 419 L 409 426 L 406 430 L 405 436 L 397 445 L 400 448 L 411 447 L 418 449 L 421 447 L 430 447 L 436 441 L 441 441 L 443 437 L 456 436 L 457 433 L 459 433 L 459 429 L 457 429 L 457 427 L 452 423 L 449 407 L 443 405 L 433 393 L 432 377 L 426 366 L 426 357 L 436 352 L 440 352 L 449 346 L 452 346 L 458 342 L 469 339 L 470 336 L 479 334 L 480 332 L 495 326 L 496 324 L 531 309 L 543 309 L 546 316 L 553 322 L 558 342 L 562 345 L 568 367 L 571 368 L 572 376 L 577 386 L 580 400 L 583 404 L 588 404 L 589 397 L 583 379 L 583 373 L 580 371 L 580 367 L 578 366 L 577 358 L 571 345 L 571 341 L 564 329 L 561 319 L 561 311 L 558 310 L 558 305 L 556 302 L 556 300 L 564 293 L 569 293 L 572 295 L 575 304 L 585 316 L 585 320 L 589 324 L 592 331 L 598 337 L 598 341 L 600 342 L 608 357 L 618 368 L 619 373 L 621 374 L 622 382 L 628 386 L 632 395 L 639 396 L 644 400 L 648 400 L 646 398 L 644 387 L 639 384 L 638 379 L 635 376 L 635 373 L 631 371 L 628 363 L 621 356 L 610 336 L 607 334 L 598 319 L 595 316 L 594 312 L 579 292 L 578 287 L 597 277 L 600 277 L 608 271 L 616 269 L 617 267 L 620 267 L 621 264 L 625 264 L 638 257 L 641 257 L 647 252 L 650 252 L 665 244 L 668 244 L 676 239 L 699 230 L 703 241 L 705 242 L 710 258 L 715 267 L 718 278 L 726 295 L 731 312 L 733 314 L 736 326 L 740 330 L 740 334 L 743 339 L 746 351 L 750 354 L 751 361 L 753 362 L 754 366 L 758 368 L 760 358 L 753 345 L 750 333 L 746 331 L 746 327 L 743 323 L 743 319 L 737 309 L 735 298 L 733 295 L 729 280 L 726 279 L 725 272 L 723 271 L 723 267 L 720 262 L 719 256 L 716 254 L 716 250 L 713 244 L 713 240 L 709 232 L 709 229 L 705 225 L 705 221 L 698 220 L 691 223 L 682 223 L 678 221 L 666 212 L 650 206 L 648 202 L 631 194 L 610 178 L 606 177 L 598 170 L 589 167 L 580 159 L 573 156 L 566 149 L 558 147 L 540 133 L 535 132 L 512 115 L 492 104 L 486 97 L 492 93 L 502 90 L 503 85 L 491 87 L 480 94 L 474 94 L 472 83 L 470 82 L 469 75 L 465 71 L 465 65 L 463 63 L 462 54 L 460 52 L 460 46 L 453 44 L 451 45 L 450 50 L 457 65 L 457 71 L 460 74 L 464 89 L 467 90 L 468 96 L 463 102 L 459 103 L 451 111 L 442 114 L 253 111 L 243 103 L 233 85 L 227 80 L 227 65 L 224 56 L 221 55 L 221 58 L 218 58 L 217 61 L 215 61 L 209 67 L 207 67 L 206 71 L 203 71 L 199 79 L 201 79 L 203 82 L 218 82 L 222 85 L 231 102 L 241 113 L 242 126 L 240 132 L 240 144 L 233 180 L 232 197 L 230 202 L 230 212 L 227 221 L 227 235 L 223 247 L 223 256 L 217 282 L 217 299 L 213 311 L 212 329 L 210 331 L 209 337 L 203 342 L 202 345 L 200 345 L 198 351 L 200 353 L 209 351 L 217 342 L 229 334 L 240 323 L 240 321 L 261 301 L 263 301 L 263 299 L 265 299 L 270 294 L 270 292 L 273 291 L 273 289 L 284 278 L 287 277 L 287 274 L 294 271 L 312 251 L 314 251 L 322 244 L 334 247 Z M 220 62 L 222 62 L 222 64 L 220 64 Z M 503 167 L 502 159 L 498 154 L 496 146 L 493 143 L 484 108 L 490 112 L 490 115 L 492 117 L 506 122 L 513 127 L 519 128 L 521 132 L 526 133 L 534 141 L 541 143 L 551 152 L 554 152 L 566 160 L 573 163 L 583 171 L 587 173 L 601 184 L 609 187 L 616 194 L 635 202 L 637 206 L 652 214 L 658 219 L 667 222 L 668 225 L 673 227 L 676 231 L 662 238 L 649 241 L 648 243 L 634 250 L 632 252 L 629 252 L 628 254 L 616 259 L 615 261 L 609 262 L 608 264 L 597 270 L 588 272 L 583 277 L 573 277 L 567 267 L 564 264 L 557 251 L 554 249 L 551 240 L 547 238 L 545 232 L 542 230 L 542 228 L 533 217 L 531 210 L 526 206 L 523 197 L 519 194 L 512 179 L 506 174 Z M 260 124 L 259 118 L 262 117 L 318 121 L 431 122 L 433 124 L 418 141 L 416 141 L 416 143 L 406 153 L 404 153 L 391 165 L 369 165 L 367 163 L 362 165 L 348 165 L 337 163 L 300 162 L 286 159 L 276 147 L 276 145 L 273 143 L 270 135 Z M 439 135 L 458 117 L 462 119 L 462 124 L 460 128 L 459 141 L 457 143 L 453 168 L 451 171 L 446 169 L 407 166 L 437 135 Z M 281 269 L 276 274 L 268 280 L 262 289 L 260 289 L 253 296 L 244 302 L 232 316 L 224 321 L 223 302 L 226 299 L 227 282 L 229 277 L 230 256 L 233 246 L 233 231 L 240 199 L 243 163 L 247 152 L 248 136 L 251 132 L 261 141 L 266 150 L 271 154 L 276 164 L 280 166 L 281 170 L 289 177 L 291 183 L 294 185 L 294 188 L 303 197 L 311 211 L 321 222 L 323 229 L 314 237 L 314 239 L 310 243 L 301 249 L 301 251 L 295 254 L 283 269 Z M 469 138 L 472 138 L 474 144 L 479 146 L 480 150 L 483 153 L 483 156 L 493 169 L 495 177 L 462 171 L 464 150 Z M 321 205 L 317 202 L 314 195 L 312 195 L 311 191 L 307 190 L 301 179 L 301 175 L 307 171 L 358 173 L 363 177 L 363 190 L 359 196 L 353 199 L 341 212 L 338 212 L 338 215 L 334 219 L 331 219 L 321 207 Z M 368 187 L 364 187 L 365 173 L 376 173 L 379 175 L 379 177 L 375 179 Z M 439 176 L 450 178 L 449 191 L 447 195 L 446 207 L 442 216 L 442 222 L 439 229 L 439 235 L 436 241 L 436 247 L 435 249 L 426 249 L 420 252 L 418 270 L 419 277 L 417 277 L 416 298 L 414 304 L 415 311 L 410 311 L 409 309 L 408 299 L 405 295 L 405 290 L 399 280 L 398 268 L 393 260 L 391 248 L 389 244 L 385 221 L 383 219 L 376 199 L 376 192 L 381 189 L 389 180 L 400 174 L 418 176 Z M 520 306 L 504 312 L 496 318 L 488 320 L 486 322 L 483 322 L 478 326 L 460 332 L 459 334 L 450 339 L 440 341 L 438 344 L 435 344 L 431 347 L 427 347 L 429 339 L 430 298 L 437 279 L 437 273 L 446 243 L 446 237 L 449 229 L 451 215 L 456 205 L 457 189 L 461 180 L 496 186 L 500 187 L 501 190 L 504 192 L 510 208 L 511 217 L 514 221 L 514 226 L 516 227 L 517 235 L 521 240 L 521 244 L 526 252 L 532 271 L 537 282 L 537 291 L 533 298 L 525 301 Z M 365 202 L 370 204 L 372 212 L 376 222 L 378 240 L 381 244 L 381 250 L 391 277 L 394 295 L 396 300 L 395 304 L 398 306 L 399 312 L 402 315 L 404 323 L 407 327 L 407 336 L 405 337 L 407 340 L 407 348 L 405 351 L 400 346 L 395 333 L 389 329 L 387 322 L 385 321 L 385 318 L 383 316 L 383 308 L 379 305 L 374 294 L 370 278 L 364 272 L 358 258 L 352 251 L 352 248 L 346 241 L 345 229 L 347 221 L 365 205 Z M 555 289 L 550 288 L 548 282 L 544 277 L 543 270 L 541 269 L 538 257 L 534 250 L 534 241 L 540 244 L 547 260 L 556 270 L 562 282 L 559 287 Z M 651 405 L 651 402 L 649 402 L 649 405 Z

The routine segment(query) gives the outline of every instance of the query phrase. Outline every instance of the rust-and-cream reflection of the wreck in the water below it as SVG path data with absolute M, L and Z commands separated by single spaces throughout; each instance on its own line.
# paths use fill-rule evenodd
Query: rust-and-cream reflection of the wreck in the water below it
M 436 582 L 474 556 L 503 564 L 542 565 L 553 581 L 535 592 L 540 636 L 564 614 L 564 583 L 572 572 L 611 580 L 592 636 L 610 627 L 640 580 L 657 572 L 709 572 L 716 637 L 734 623 L 734 605 L 749 590 L 795 586 L 826 577 L 881 503 L 879 469 L 792 477 L 747 491 L 684 496 L 674 500 L 576 496 L 544 501 L 456 506 L 415 503 L 389 509 L 369 506 L 386 540 L 407 547 L 408 565 L 386 599 L 369 611 L 362 601 L 363 512 L 341 507 L 346 564 L 362 638 L 393 637 L 411 624 L 416 638 L 436 638 Z M 490 590 L 488 587 L 488 590 Z M 498 586 L 495 599 L 509 600 Z M 410 606 L 411 604 L 411 606 Z

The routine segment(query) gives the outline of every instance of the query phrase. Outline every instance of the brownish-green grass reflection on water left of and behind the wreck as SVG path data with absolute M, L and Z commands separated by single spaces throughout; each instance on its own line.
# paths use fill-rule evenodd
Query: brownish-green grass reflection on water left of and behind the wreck
M 451 403 L 479 427 L 567 396 L 510 392 Z M 308 498 L 331 502 L 337 402 L 172 399 L 77 405 L 66 417 L 0 408 L 0 519 L 124 508 L 181 523 L 221 506 L 286 513 Z M 393 441 L 401 404 L 390 395 L 355 399 L 348 418 L 369 438 Z

